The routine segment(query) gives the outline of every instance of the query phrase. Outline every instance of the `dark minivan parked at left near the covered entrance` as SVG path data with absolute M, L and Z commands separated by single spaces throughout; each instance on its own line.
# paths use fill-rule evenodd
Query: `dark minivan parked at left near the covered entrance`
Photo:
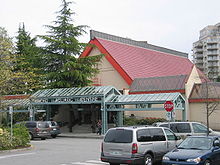
M 49 124 L 45 121 L 25 121 L 25 127 L 27 127 L 30 135 L 30 139 L 41 138 L 45 140 L 50 136 Z

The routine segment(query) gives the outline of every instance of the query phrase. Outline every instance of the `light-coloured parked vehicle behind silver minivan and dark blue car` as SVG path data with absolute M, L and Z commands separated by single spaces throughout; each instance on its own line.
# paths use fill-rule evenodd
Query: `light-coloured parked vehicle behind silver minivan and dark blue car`
M 181 137 L 192 136 L 192 135 L 207 135 L 207 127 L 199 122 L 158 122 L 154 123 L 153 126 L 167 127 Z M 220 132 L 209 129 L 209 135 L 220 136 Z

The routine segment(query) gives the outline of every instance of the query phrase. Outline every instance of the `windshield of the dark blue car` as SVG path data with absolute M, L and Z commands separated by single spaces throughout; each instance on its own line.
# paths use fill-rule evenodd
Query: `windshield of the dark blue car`
M 211 148 L 212 139 L 208 137 L 188 137 L 179 146 L 178 149 L 198 149 L 208 150 Z

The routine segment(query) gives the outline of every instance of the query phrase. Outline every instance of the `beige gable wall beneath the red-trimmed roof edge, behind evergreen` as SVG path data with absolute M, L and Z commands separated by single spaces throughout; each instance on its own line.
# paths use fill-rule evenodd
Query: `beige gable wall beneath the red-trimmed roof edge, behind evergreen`
M 93 48 L 90 52 L 89 56 L 94 56 L 101 54 L 98 48 Z M 102 86 L 111 85 L 116 87 L 119 90 L 123 90 L 124 88 L 128 88 L 128 84 L 121 77 L 118 71 L 108 62 L 108 60 L 103 57 L 102 61 L 98 66 L 100 73 L 94 78 L 95 84 L 100 84 Z

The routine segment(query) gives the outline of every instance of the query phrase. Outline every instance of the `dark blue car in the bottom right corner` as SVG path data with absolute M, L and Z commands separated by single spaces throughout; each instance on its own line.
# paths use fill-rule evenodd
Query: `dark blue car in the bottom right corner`
M 190 136 L 176 149 L 164 155 L 163 165 L 219 165 L 218 136 Z

